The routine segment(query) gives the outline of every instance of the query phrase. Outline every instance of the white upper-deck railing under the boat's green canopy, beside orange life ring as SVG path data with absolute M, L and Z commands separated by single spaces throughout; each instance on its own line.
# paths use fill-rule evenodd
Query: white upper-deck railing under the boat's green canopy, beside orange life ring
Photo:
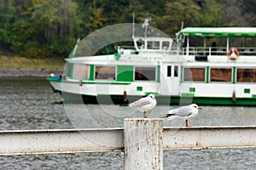
M 230 47 L 231 48 L 231 47 Z M 240 55 L 256 55 L 254 47 L 235 47 Z M 226 55 L 228 49 L 226 47 L 189 47 L 183 48 L 183 55 Z

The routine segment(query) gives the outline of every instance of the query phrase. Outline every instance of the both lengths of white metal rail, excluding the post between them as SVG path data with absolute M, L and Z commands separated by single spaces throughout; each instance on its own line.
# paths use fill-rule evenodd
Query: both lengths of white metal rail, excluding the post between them
M 256 147 L 256 126 L 164 127 L 164 150 Z M 123 151 L 124 129 L 0 131 L 0 155 Z

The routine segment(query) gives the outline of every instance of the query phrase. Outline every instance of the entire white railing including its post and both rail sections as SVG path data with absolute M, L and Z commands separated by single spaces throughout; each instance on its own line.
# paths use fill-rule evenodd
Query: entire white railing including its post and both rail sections
M 163 169 L 163 150 L 256 147 L 255 129 L 125 118 L 124 128 L 0 131 L 0 155 L 124 151 L 125 169 Z

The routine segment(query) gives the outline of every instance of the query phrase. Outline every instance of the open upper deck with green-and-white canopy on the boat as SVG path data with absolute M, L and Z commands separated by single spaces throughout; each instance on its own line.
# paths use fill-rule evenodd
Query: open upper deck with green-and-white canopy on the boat
M 190 41 L 199 37 L 203 46 Z M 235 46 L 240 55 L 256 55 L 256 48 L 247 46 L 247 42 L 255 42 L 256 27 L 187 27 L 179 31 L 178 37 L 183 55 L 226 55 Z M 186 41 L 186 42 L 184 42 Z M 219 45 L 218 45 L 219 44 Z

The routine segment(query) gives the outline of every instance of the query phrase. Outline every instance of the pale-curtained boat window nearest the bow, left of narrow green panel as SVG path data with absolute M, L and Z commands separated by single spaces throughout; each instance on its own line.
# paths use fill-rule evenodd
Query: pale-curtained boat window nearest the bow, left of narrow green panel
M 89 77 L 89 65 L 73 65 L 73 78 L 75 79 L 88 79 Z

